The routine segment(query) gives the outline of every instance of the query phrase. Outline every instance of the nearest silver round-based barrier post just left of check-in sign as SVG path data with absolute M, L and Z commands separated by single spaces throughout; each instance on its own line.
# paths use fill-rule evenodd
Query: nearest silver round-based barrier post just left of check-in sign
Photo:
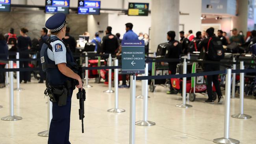
M 118 59 L 115 59 L 115 66 L 118 66 Z M 114 82 L 115 82 L 115 108 L 109 109 L 108 112 L 111 113 L 122 113 L 125 112 L 124 109 L 118 108 L 118 69 L 114 70 Z

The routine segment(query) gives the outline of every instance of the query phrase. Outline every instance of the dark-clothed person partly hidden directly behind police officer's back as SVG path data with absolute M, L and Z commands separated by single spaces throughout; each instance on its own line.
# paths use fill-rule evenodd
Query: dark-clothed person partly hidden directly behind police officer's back
M 41 48 L 42 48 L 42 46 L 44 44 L 43 41 L 46 41 L 49 38 L 47 33 L 48 33 L 48 30 L 46 28 L 42 28 L 42 30 L 41 30 L 41 38 L 39 39 L 39 55 L 40 55 Z M 39 64 L 39 67 L 42 68 L 41 63 L 39 62 L 38 64 Z M 43 69 L 40 69 L 39 75 L 40 75 L 40 80 L 39 80 L 38 83 L 44 83 L 45 72 L 43 71 Z

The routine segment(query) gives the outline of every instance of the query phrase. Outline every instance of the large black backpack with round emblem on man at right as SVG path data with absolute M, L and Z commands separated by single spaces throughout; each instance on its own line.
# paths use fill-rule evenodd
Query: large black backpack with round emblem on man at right
M 219 61 L 224 58 L 224 48 L 222 42 L 217 37 L 211 37 L 207 45 L 208 58 L 213 61 Z

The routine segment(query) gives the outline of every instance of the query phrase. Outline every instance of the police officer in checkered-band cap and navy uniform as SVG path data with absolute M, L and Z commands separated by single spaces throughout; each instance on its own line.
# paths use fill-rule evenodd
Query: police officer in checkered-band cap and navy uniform
M 53 105 L 48 144 L 70 144 L 70 110 L 74 81 L 78 81 L 78 89 L 82 89 L 83 85 L 80 76 L 74 72 L 76 64 L 69 46 L 61 40 L 65 37 L 67 23 L 63 13 L 56 13 L 45 23 L 45 27 L 52 33 L 41 49 L 41 63 L 47 77 L 46 87 L 48 92 L 53 92 L 52 97 L 49 95 Z

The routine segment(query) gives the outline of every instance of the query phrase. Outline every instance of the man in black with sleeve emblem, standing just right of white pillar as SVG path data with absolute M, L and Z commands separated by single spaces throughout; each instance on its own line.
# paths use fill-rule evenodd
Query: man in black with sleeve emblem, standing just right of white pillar
M 180 58 L 180 49 L 181 44 L 180 42 L 175 40 L 175 31 L 168 31 L 167 32 L 167 40 L 169 41 L 167 47 L 166 47 L 166 54 L 165 58 L 171 58 L 171 59 L 179 59 Z M 168 62 L 169 66 L 169 72 L 170 74 L 176 74 L 176 67 L 179 62 Z M 162 65 L 164 62 L 161 63 Z M 172 86 L 172 83 L 170 83 L 170 91 L 166 92 L 167 94 L 177 94 L 177 90 L 175 90 Z

